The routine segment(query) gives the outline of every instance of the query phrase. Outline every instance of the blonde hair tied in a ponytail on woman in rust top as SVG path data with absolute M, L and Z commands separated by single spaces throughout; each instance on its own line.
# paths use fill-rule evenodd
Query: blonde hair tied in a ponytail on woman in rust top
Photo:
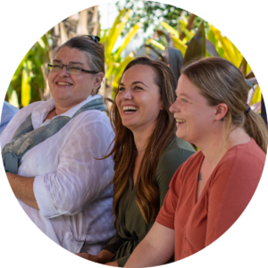
M 220 57 L 209 57 L 183 66 L 181 74 L 186 75 L 200 89 L 208 105 L 223 103 L 228 106 L 224 117 L 226 140 L 232 126 L 240 127 L 268 154 L 267 126 L 254 111 L 245 113 L 248 108 L 248 86 L 236 66 Z

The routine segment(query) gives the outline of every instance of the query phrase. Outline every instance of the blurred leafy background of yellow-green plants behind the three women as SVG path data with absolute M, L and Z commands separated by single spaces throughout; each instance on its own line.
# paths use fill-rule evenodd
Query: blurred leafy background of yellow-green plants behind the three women
M 105 80 L 100 94 L 108 107 L 121 73 L 135 57 L 146 55 L 168 64 L 179 78 L 180 68 L 195 57 L 220 56 L 236 65 L 247 81 L 247 104 L 261 113 L 262 89 L 247 58 L 213 21 L 182 7 L 153 0 L 118 0 L 94 4 L 58 21 L 40 33 L 15 68 L 4 99 L 18 108 L 49 99 L 47 63 L 54 49 L 69 38 L 99 36 L 105 46 Z M 266 112 L 267 113 L 267 112 Z

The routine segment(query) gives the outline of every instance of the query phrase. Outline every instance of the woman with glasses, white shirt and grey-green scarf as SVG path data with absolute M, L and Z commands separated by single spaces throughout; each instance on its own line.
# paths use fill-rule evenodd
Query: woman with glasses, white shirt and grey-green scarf
M 48 64 L 53 99 L 21 109 L 4 129 L 4 172 L 24 214 L 57 246 L 97 254 L 115 233 L 114 134 L 103 97 L 104 46 L 71 38 Z

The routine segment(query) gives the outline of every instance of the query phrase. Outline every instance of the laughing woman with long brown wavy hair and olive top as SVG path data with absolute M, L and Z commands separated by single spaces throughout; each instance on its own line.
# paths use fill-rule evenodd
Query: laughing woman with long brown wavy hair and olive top
M 80 258 L 123 267 L 155 222 L 173 173 L 195 152 L 175 136 L 176 122 L 169 111 L 175 88 L 176 80 L 164 63 L 140 57 L 124 70 L 111 117 L 117 234 L 98 255 L 76 254 Z

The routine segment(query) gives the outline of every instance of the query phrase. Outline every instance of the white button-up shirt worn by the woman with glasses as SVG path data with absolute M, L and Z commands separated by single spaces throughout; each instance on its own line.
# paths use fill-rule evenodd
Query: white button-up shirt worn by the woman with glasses
M 58 116 L 72 117 L 88 99 Z M 54 99 L 36 102 L 13 116 L 0 136 L 0 152 L 15 130 L 32 113 L 34 130 L 49 122 Z M 52 119 L 54 120 L 54 118 Z M 30 149 L 19 163 L 18 174 L 35 177 L 38 209 L 16 198 L 29 220 L 48 239 L 71 254 L 81 247 L 96 255 L 113 237 L 113 160 L 106 154 L 114 134 L 105 112 L 89 110 L 69 121 L 52 137 Z

